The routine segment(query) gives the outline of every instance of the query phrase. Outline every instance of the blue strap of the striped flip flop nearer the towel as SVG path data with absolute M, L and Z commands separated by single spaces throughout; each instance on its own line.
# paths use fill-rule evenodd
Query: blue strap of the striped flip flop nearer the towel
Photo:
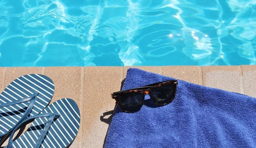
M 38 114 L 38 115 L 35 115 L 35 116 L 32 116 L 32 117 L 29 117 L 28 119 L 24 120 L 23 122 L 21 122 L 19 125 L 17 125 L 17 127 L 12 131 L 12 134 L 9 138 L 9 143 L 7 145 L 7 148 L 12 148 L 12 138 L 14 136 L 14 133 L 15 131 L 17 131 L 17 129 L 25 122 L 29 121 L 29 120 L 32 120 L 32 119 L 36 119 L 36 118 L 41 118 L 41 117 L 49 117 L 48 118 L 48 121 L 46 122 L 45 126 L 44 126 L 44 129 L 40 135 L 40 137 L 38 138 L 38 141 L 36 142 L 34 148 L 39 148 L 40 145 L 42 144 L 43 140 L 44 140 L 44 137 L 47 133 L 47 131 L 49 130 L 50 126 L 52 125 L 52 122 L 53 122 L 53 119 L 55 118 L 58 118 L 59 116 L 61 116 L 60 114 L 58 113 L 42 113 L 42 114 Z

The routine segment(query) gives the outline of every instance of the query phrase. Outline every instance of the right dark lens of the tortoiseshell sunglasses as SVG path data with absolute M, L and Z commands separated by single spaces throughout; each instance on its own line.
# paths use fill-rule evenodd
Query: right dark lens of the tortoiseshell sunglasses
M 151 90 L 151 98 L 156 104 L 168 104 L 174 98 L 174 90 L 172 84 L 165 84 Z

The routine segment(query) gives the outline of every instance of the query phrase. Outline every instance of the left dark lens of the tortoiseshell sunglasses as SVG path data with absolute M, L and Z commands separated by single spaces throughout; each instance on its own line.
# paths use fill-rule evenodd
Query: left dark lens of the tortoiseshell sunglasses
M 143 104 L 143 94 L 137 92 L 123 93 L 117 97 L 119 107 L 126 111 L 138 111 Z

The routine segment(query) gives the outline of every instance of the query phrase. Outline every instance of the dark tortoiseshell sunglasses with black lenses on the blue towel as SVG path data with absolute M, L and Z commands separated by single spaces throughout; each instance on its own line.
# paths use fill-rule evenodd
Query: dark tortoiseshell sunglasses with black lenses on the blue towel
M 122 111 L 136 112 L 142 107 L 147 94 L 157 105 L 171 103 L 175 98 L 177 84 L 177 80 L 162 81 L 130 90 L 114 92 L 111 96 L 116 100 L 116 104 Z

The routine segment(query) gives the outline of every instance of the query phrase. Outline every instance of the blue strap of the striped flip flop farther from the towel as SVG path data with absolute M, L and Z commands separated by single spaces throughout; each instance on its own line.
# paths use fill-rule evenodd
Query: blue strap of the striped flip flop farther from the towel
M 38 92 L 34 93 L 33 96 L 30 96 L 30 97 L 27 97 L 27 98 L 24 98 L 24 99 L 20 99 L 20 100 L 17 100 L 17 101 L 14 101 L 14 102 L 9 102 L 9 103 L 5 103 L 5 104 L 2 104 L 0 105 L 0 107 L 6 107 L 6 106 L 10 106 L 10 105 L 15 105 L 15 104 L 20 104 L 20 103 L 24 103 L 24 102 L 29 102 L 29 105 L 25 111 L 25 113 L 23 114 L 22 118 L 19 120 L 19 122 L 17 122 L 17 124 L 12 127 L 12 129 L 10 129 L 10 131 L 8 131 L 7 133 L 3 133 L 3 134 L 0 134 L 0 137 L 5 137 L 7 136 L 9 133 L 12 132 L 12 130 L 20 124 L 20 122 L 22 122 L 24 119 L 26 119 L 26 117 L 29 115 L 29 113 L 31 113 L 32 111 L 32 108 L 35 104 L 35 99 L 36 97 L 38 96 Z

